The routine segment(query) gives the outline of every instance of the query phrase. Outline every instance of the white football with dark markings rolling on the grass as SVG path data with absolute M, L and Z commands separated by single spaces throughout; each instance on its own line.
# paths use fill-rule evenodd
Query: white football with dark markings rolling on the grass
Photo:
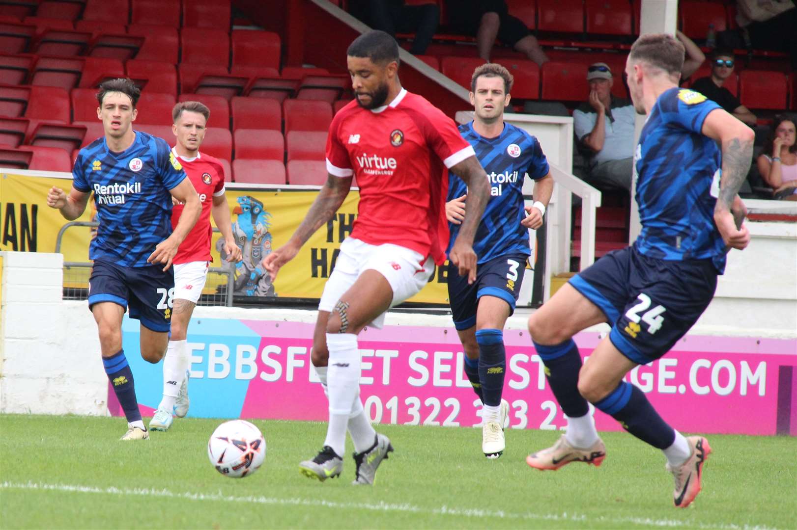
M 222 423 L 207 442 L 207 458 L 225 477 L 248 477 L 263 464 L 265 438 L 243 419 Z

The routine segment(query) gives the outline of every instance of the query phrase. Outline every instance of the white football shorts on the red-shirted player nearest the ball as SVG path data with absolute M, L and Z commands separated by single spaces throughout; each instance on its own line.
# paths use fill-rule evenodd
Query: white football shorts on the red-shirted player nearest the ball
M 387 279 L 393 290 L 391 307 L 404 302 L 426 285 L 434 272 L 434 259 L 426 259 L 414 250 L 394 244 L 371 245 L 348 237 L 340 244 L 340 254 L 335 270 L 329 275 L 318 310 L 329 311 L 340 297 L 354 285 L 367 269 L 373 269 Z M 380 314 L 371 325 L 382 329 L 385 314 Z

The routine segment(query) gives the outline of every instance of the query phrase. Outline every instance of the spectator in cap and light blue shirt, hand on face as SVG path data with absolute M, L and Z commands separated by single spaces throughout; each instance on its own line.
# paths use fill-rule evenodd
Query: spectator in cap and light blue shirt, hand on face
M 611 94 L 614 77 L 606 63 L 587 68 L 590 96 L 573 111 L 575 135 L 590 154 L 585 179 L 597 187 L 631 189 L 636 112 L 630 100 Z

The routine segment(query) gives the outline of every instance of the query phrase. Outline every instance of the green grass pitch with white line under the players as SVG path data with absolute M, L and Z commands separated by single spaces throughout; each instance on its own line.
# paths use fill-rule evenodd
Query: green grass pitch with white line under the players
M 148 421 L 148 419 L 147 419 Z M 473 428 L 379 426 L 395 453 L 374 487 L 300 475 L 324 423 L 254 420 L 265 464 L 217 473 L 207 438 L 221 420 L 175 419 L 147 442 L 120 442 L 123 419 L 0 415 L 0 528 L 797 528 L 797 438 L 708 436 L 703 491 L 675 509 L 664 458 L 603 433 L 595 468 L 526 466 L 560 433 L 507 431 L 498 460 Z

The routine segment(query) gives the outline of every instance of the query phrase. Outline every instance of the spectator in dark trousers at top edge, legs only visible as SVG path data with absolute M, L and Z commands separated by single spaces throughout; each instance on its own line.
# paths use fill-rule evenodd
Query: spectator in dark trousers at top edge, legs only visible
M 413 55 L 426 53 L 434 32 L 438 30 L 440 8 L 435 2 L 405 6 L 404 0 L 351 0 L 349 12 L 371 29 L 381 29 L 391 37 L 398 33 L 415 33 L 410 47 Z

